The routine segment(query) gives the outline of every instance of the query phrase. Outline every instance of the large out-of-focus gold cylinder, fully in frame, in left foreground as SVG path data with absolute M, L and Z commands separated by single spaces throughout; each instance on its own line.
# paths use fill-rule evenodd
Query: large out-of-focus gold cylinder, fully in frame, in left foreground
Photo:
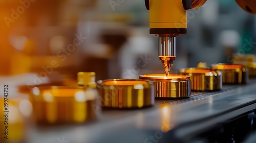
M 37 124 L 83 123 L 96 118 L 97 92 L 66 86 L 32 89 L 33 110 Z

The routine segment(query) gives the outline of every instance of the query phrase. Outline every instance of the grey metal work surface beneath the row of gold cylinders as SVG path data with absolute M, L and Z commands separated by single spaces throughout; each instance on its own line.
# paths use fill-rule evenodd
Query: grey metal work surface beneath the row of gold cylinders
M 89 124 L 32 128 L 27 142 L 58 142 L 63 137 L 70 142 L 186 140 L 256 108 L 255 79 L 247 85 L 224 85 L 221 91 L 192 94 L 185 99 L 156 100 L 151 108 L 99 111 L 99 120 Z

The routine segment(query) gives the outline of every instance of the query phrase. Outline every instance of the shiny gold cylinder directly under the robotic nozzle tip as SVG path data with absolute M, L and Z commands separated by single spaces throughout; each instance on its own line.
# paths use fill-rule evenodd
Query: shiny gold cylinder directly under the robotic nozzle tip
M 186 75 L 141 75 L 140 79 L 154 82 L 156 98 L 187 98 L 191 95 L 191 81 Z

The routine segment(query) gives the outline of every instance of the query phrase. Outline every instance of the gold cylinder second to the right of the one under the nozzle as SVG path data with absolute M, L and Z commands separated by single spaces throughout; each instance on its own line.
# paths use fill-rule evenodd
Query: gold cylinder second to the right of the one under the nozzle
M 223 84 L 245 84 L 248 80 L 247 68 L 238 64 L 213 64 L 212 69 L 222 71 Z

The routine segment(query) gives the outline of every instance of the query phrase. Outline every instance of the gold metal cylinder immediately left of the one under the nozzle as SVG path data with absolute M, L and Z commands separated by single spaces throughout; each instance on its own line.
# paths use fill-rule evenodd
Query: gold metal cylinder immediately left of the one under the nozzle
M 97 81 L 102 107 L 141 108 L 154 105 L 153 82 L 137 79 Z

